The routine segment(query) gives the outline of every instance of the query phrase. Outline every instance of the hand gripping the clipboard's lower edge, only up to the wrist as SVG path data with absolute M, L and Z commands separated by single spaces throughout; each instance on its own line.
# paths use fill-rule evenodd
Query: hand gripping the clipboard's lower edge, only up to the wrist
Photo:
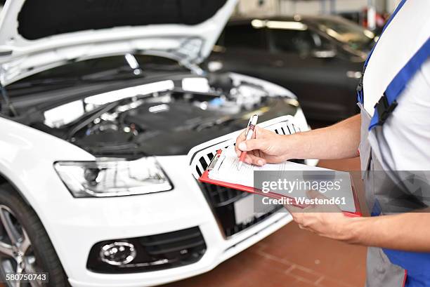
M 311 190 L 308 192 L 308 198 L 325 199 L 326 197 Z M 285 208 L 301 229 L 341 241 L 349 241 L 351 238 L 348 226 L 354 218 L 346 217 L 336 205 L 314 205 L 306 208 L 288 205 Z

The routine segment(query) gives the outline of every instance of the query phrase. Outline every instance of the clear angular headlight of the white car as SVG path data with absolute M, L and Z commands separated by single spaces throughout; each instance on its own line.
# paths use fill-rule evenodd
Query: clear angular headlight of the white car
M 155 158 L 136 161 L 58 161 L 61 180 L 74 197 L 105 197 L 148 194 L 172 189 Z

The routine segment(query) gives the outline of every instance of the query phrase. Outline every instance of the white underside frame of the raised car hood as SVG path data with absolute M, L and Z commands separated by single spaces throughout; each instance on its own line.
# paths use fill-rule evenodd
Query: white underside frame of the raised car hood
M 198 25 L 113 27 L 58 34 L 37 40 L 24 39 L 18 33 L 18 13 L 24 3 L 25 0 L 6 1 L 0 13 L 0 80 L 4 85 L 68 60 L 132 51 L 163 55 L 176 51 L 176 54 L 181 54 L 178 60 L 202 62 L 211 53 L 237 0 L 228 0 L 212 18 Z

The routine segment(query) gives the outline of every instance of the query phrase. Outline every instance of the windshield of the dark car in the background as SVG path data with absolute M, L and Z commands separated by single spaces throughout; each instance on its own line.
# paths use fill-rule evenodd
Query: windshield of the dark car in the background
M 367 50 L 375 35 L 353 22 L 341 18 L 318 19 L 318 29 L 355 50 Z

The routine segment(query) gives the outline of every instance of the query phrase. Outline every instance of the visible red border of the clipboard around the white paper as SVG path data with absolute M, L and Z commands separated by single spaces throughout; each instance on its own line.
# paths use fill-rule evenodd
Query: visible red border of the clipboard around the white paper
M 221 149 L 219 149 L 216 152 L 215 157 L 219 157 L 221 155 Z M 215 158 L 214 157 L 214 158 Z M 212 159 L 212 162 L 214 162 L 214 159 Z M 267 196 L 267 197 L 271 197 L 273 199 L 282 199 L 282 198 L 287 198 L 287 199 L 292 199 L 293 203 L 292 205 L 297 206 L 299 208 L 305 208 L 306 206 L 300 205 L 299 203 L 297 203 L 297 201 L 289 196 L 285 196 L 282 194 L 277 194 L 275 192 L 267 192 L 267 193 L 263 193 L 261 192 L 259 189 L 256 189 L 254 187 L 247 187 L 245 185 L 236 185 L 234 183 L 230 183 L 230 182 L 223 182 L 221 180 L 212 180 L 211 178 L 209 178 L 209 168 L 210 168 L 211 164 L 209 164 L 208 168 L 206 169 L 206 171 L 204 171 L 204 173 L 200 176 L 199 181 L 200 182 L 205 182 L 205 183 L 209 183 L 211 185 L 219 185 L 221 187 L 228 187 L 231 189 L 237 189 L 240 190 L 242 192 L 249 192 L 252 194 L 259 194 L 261 196 Z M 357 218 L 357 217 L 361 217 L 363 216 L 363 214 L 361 213 L 361 209 L 360 209 L 360 203 L 358 201 L 358 196 L 356 194 L 356 189 L 354 188 L 354 186 L 352 185 L 352 192 L 353 192 L 353 198 L 354 198 L 354 205 L 356 206 L 356 212 L 351 212 L 351 211 L 342 211 L 342 213 L 344 213 L 344 215 L 350 217 L 350 218 Z

